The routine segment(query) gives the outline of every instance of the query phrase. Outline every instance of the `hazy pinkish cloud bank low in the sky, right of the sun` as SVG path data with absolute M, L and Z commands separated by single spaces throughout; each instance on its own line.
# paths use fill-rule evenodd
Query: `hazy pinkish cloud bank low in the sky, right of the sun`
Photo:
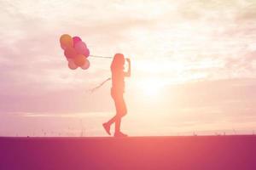
M 166 90 L 166 93 L 169 91 L 174 99 L 173 105 L 178 105 L 178 108 L 209 107 L 205 110 L 209 113 L 227 109 L 228 111 L 222 110 L 220 113 L 235 117 L 238 115 L 234 112 L 239 109 L 253 109 L 255 105 L 253 89 L 255 88 L 255 79 L 223 79 L 173 85 Z M 253 114 L 253 111 L 248 114 Z

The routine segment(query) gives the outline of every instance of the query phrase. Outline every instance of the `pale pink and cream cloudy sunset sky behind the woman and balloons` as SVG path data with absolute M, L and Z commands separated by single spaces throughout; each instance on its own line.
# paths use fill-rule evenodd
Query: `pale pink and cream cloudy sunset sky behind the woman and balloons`
M 131 136 L 256 130 L 254 0 L 0 1 L 0 136 L 106 136 L 111 59 L 68 69 L 62 34 L 125 54 Z

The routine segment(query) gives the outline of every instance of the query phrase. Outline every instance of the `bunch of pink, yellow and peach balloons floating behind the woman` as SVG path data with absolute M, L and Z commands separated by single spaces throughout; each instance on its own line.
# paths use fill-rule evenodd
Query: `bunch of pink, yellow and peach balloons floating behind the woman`
M 90 67 L 90 62 L 87 59 L 90 51 L 80 37 L 71 37 L 68 34 L 63 34 L 60 42 L 70 69 L 75 70 L 80 67 L 86 70 Z

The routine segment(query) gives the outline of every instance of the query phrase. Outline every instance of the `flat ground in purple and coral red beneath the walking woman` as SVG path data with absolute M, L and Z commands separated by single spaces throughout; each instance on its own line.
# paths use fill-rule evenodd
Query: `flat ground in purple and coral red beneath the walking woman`
M 256 170 L 256 135 L 0 138 L 1 170 Z

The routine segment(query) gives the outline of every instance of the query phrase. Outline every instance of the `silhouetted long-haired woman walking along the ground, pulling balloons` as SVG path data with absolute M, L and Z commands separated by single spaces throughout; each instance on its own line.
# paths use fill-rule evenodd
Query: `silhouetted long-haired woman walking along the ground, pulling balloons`
M 131 76 L 131 61 L 126 59 L 128 62 L 128 71 L 124 71 L 125 57 L 123 54 L 115 54 L 111 64 L 112 72 L 112 88 L 111 96 L 114 101 L 116 115 L 113 116 L 108 122 L 103 123 L 103 127 L 106 132 L 111 135 L 110 127 L 115 122 L 114 137 L 127 137 L 127 134 L 120 132 L 121 118 L 126 115 L 127 109 L 125 105 L 124 92 L 125 92 L 125 77 Z

